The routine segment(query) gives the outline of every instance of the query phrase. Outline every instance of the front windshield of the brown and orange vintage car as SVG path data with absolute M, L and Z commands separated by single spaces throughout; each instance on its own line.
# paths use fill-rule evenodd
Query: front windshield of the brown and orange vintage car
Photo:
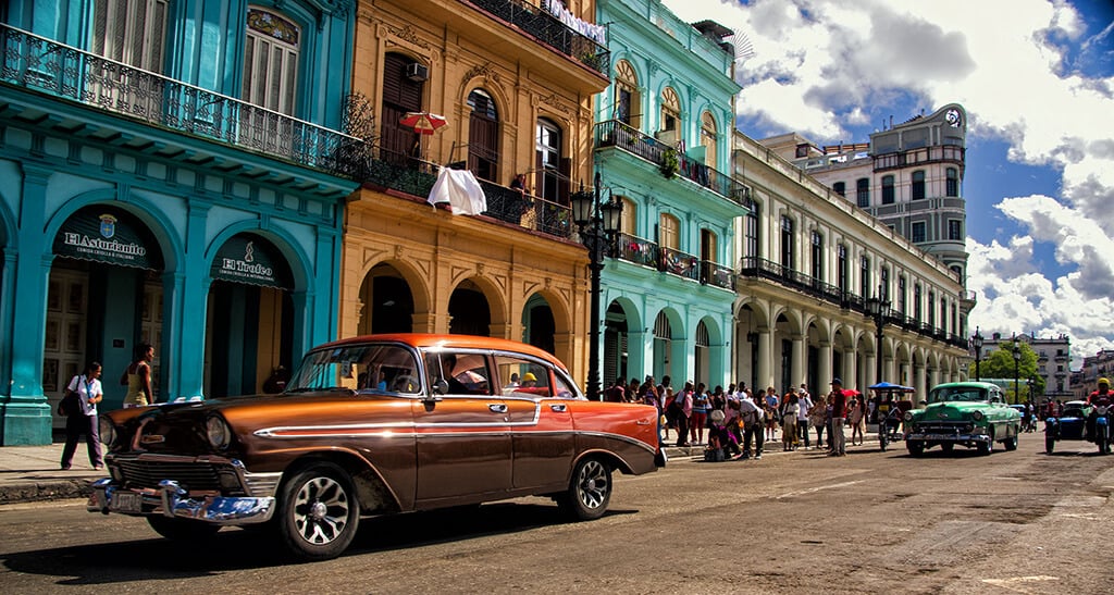
M 418 362 L 409 349 L 391 343 L 363 343 L 320 349 L 302 360 L 286 392 L 349 390 L 417 394 Z

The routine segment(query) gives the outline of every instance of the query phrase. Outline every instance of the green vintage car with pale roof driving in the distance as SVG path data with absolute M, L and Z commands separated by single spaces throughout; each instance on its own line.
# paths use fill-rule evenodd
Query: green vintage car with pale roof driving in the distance
M 1022 414 L 1006 404 L 997 384 L 950 382 L 929 391 L 928 407 L 906 412 L 906 448 L 913 457 L 934 446 L 950 452 L 961 445 L 989 455 L 994 443 L 1001 442 L 1006 450 L 1016 450 Z

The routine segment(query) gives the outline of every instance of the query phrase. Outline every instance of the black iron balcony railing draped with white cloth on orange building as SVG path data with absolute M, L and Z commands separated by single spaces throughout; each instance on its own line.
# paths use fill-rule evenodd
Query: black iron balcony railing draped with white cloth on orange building
M 411 196 L 427 197 L 437 182 L 438 166 L 409 155 L 372 147 L 360 172 L 360 182 Z M 507 186 L 480 179 L 487 198 L 481 216 L 568 240 L 573 235 L 571 209 L 537 196 L 522 195 Z

